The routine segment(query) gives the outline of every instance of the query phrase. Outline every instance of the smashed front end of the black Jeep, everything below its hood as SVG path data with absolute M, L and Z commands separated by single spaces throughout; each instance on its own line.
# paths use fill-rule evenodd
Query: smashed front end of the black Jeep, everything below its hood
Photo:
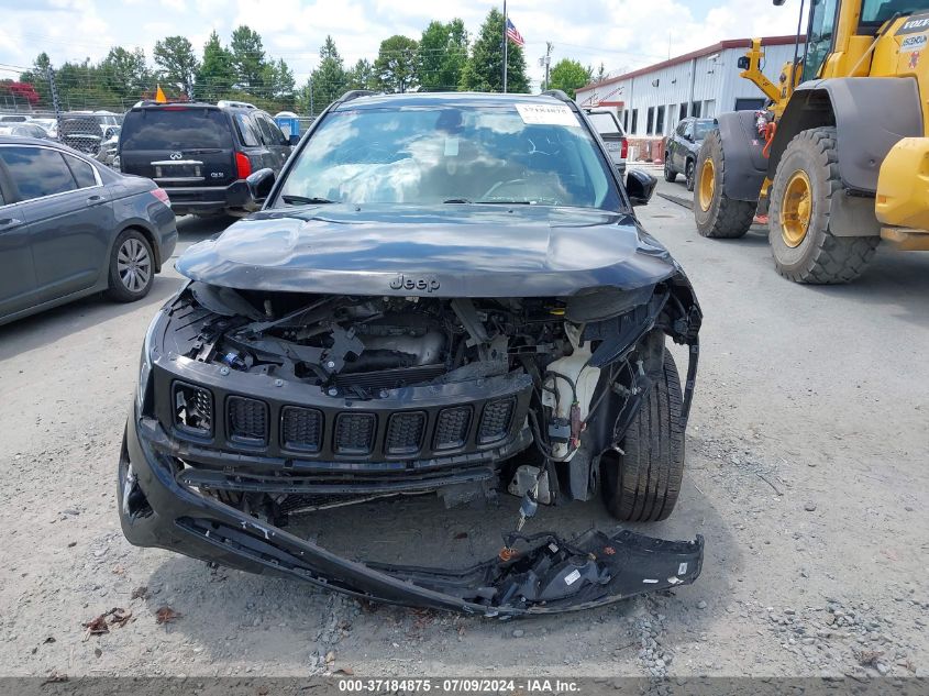
M 699 537 L 662 542 L 591 530 L 563 539 L 522 530 L 542 516 L 540 506 L 599 496 L 619 519 L 671 512 L 679 469 L 666 490 L 633 486 L 629 502 L 623 448 L 642 446 L 626 433 L 635 423 L 641 430 L 640 410 L 662 406 L 656 394 L 683 433 L 699 324 L 683 278 L 568 298 L 303 295 L 193 281 L 146 338 L 139 428 L 128 432 L 121 467 L 124 528 L 152 516 L 135 449 L 135 459 L 148 452 L 150 479 L 197 496 L 202 516 L 178 512 L 175 529 L 219 544 L 233 566 L 270 563 L 339 587 L 346 567 L 320 575 L 308 557 L 327 552 L 284 543 L 295 516 L 409 495 L 438 495 L 450 508 L 486 506 L 509 494 L 520 499 L 519 513 L 499 530 L 499 559 L 460 572 L 368 563 L 341 588 L 366 596 L 360 588 L 374 583 L 388 600 L 439 593 L 443 599 L 417 603 L 521 614 L 690 583 Z M 674 384 L 677 375 L 666 336 L 689 346 L 677 406 L 667 391 L 668 374 Z M 672 442 L 672 466 L 683 466 L 681 446 L 675 452 Z M 143 543 L 166 545 L 164 533 Z M 388 576 L 405 584 L 396 597 L 378 585 Z

